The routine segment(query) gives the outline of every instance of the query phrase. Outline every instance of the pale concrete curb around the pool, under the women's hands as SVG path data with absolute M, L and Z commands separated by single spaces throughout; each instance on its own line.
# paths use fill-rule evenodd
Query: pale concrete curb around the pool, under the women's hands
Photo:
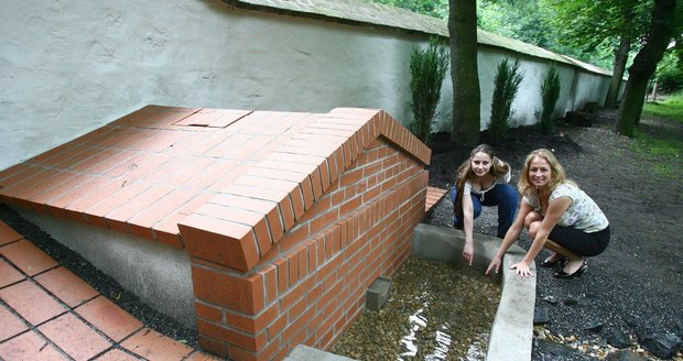
M 494 259 L 501 240 L 475 234 L 473 266 L 484 272 Z M 465 233 L 430 225 L 418 225 L 413 236 L 413 254 L 434 260 L 463 263 L 460 258 Z M 486 359 L 530 360 L 533 340 L 533 309 L 535 307 L 535 277 L 520 277 L 510 265 L 520 262 L 527 251 L 512 244 L 503 256 L 501 273 L 494 275 L 502 285 L 502 294 L 491 326 Z M 535 274 L 535 264 L 531 264 Z

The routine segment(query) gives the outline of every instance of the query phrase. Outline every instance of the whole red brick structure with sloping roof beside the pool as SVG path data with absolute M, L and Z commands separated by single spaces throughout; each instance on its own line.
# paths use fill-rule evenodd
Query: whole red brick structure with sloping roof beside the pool
M 431 152 L 381 110 L 150 106 L 0 173 L 0 197 L 184 249 L 208 351 L 329 348 L 411 251 Z

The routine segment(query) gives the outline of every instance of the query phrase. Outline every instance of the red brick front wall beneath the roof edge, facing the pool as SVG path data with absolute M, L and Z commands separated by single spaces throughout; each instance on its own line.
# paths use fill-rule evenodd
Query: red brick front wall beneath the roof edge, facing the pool
M 379 138 L 254 271 L 194 259 L 202 346 L 236 360 L 329 348 L 362 311 L 368 286 L 410 254 L 426 185 L 423 164 Z

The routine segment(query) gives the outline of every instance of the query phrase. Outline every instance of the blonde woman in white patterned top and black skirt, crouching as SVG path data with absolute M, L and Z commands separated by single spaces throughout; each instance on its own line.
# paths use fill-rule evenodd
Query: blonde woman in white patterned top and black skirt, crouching
M 541 248 L 548 247 L 554 253 L 541 266 L 557 266 L 557 278 L 581 276 L 588 269 L 586 258 L 600 254 L 609 244 L 605 214 L 576 183 L 565 178 L 560 162 L 544 149 L 527 156 L 518 188 L 522 195 L 519 212 L 486 274 L 498 273 L 502 255 L 527 227 L 533 242 L 522 262 L 511 265 L 511 270 L 533 276 L 529 264 Z

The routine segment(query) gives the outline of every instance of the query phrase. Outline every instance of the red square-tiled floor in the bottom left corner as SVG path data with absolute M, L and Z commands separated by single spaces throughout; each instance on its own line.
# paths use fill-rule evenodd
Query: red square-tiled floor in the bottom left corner
M 145 328 L 0 221 L 0 360 L 217 360 Z

